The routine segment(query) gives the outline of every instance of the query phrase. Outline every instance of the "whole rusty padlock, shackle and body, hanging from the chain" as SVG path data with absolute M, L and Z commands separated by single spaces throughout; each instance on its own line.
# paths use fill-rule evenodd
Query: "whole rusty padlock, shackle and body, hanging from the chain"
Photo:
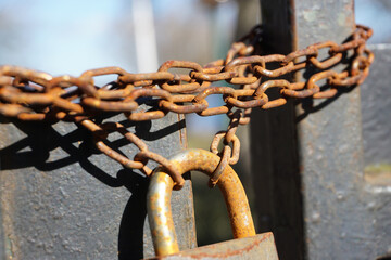
M 182 174 L 190 170 L 211 176 L 220 158 L 204 150 L 187 150 L 169 162 Z M 157 259 L 278 259 L 274 236 L 255 235 L 244 188 L 231 167 L 227 166 L 217 182 L 227 205 L 232 240 L 179 251 L 171 210 L 173 179 L 163 168 L 154 170 L 147 194 L 147 211 Z

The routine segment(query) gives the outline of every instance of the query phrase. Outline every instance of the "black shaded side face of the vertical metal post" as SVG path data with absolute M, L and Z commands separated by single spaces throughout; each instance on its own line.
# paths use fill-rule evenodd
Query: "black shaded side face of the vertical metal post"
M 293 50 L 294 26 L 285 0 L 261 1 L 263 54 Z M 270 93 L 269 96 L 273 98 Z M 304 256 L 301 180 L 295 113 L 292 100 L 251 115 L 251 167 L 257 211 L 257 231 L 273 231 L 280 259 Z

